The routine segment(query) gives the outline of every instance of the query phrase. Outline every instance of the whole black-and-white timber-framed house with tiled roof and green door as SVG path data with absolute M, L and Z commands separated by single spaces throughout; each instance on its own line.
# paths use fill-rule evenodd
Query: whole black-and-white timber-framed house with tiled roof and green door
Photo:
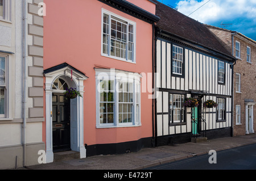
M 156 15 L 156 146 L 232 136 L 235 58 L 204 24 L 160 2 Z M 218 106 L 205 107 L 208 100 Z

